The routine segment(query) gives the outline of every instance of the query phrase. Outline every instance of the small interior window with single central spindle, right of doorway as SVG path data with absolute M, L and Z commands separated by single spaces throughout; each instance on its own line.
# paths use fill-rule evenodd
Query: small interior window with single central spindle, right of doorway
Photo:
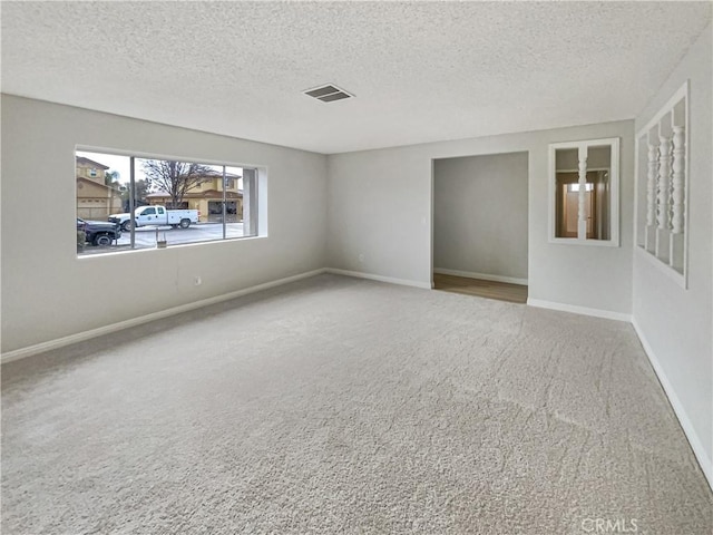
M 549 146 L 550 242 L 618 246 L 618 138 Z

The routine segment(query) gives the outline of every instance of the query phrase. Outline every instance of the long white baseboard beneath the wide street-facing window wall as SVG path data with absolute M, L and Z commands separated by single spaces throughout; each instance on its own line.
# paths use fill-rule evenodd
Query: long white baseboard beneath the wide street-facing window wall
M 118 323 L 113 323 L 110 325 L 99 327 L 97 329 L 91 329 L 89 331 L 78 332 L 76 334 L 70 334 L 68 337 L 58 338 L 56 340 L 37 343 L 35 346 L 28 346 L 27 348 L 20 348 L 13 351 L 7 351 L 2 353 L 2 357 L 0 357 L 0 362 L 4 364 L 6 362 L 12 362 L 13 360 L 19 360 L 25 357 L 30 357 L 32 354 L 41 353 L 43 351 L 49 351 L 52 349 L 62 348 L 65 346 L 70 346 L 72 343 L 82 342 L 85 340 L 90 340 L 92 338 L 97 338 L 102 334 L 109 334 L 111 332 L 120 331 L 123 329 L 128 329 L 130 327 L 137 327 L 148 321 L 160 320 L 172 315 L 180 314 L 182 312 L 188 312 L 191 310 L 201 309 L 203 307 L 208 307 L 211 304 L 216 304 L 223 301 L 228 301 L 231 299 L 240 298 L 242 295 L 247 295 L 248 293 L 260 292 L 261 290 L 267 290 L 270 288 L 280 286 L 282 284 L 300 281 L 302 279 L 309 279 L 310 276 L 319 275 L 324 272 L 325 272 L 324 269 L 307 271 L 306 273 L 300 273 L 297 275 L 286 276 L 284 279 L 277 279 L 276 281 L 270 281 L 263 284 L 257 284 L 255 286 L 245 288 L 243 290 L 236 290 L 234 292 L 216 295 L 215 298 L 202 299 L 201 301 L 182 304 L 179 307 L 162 310 L 150 314 L 141 315 L 139 318 L 131 318 L 130 320 L 119 321 Z

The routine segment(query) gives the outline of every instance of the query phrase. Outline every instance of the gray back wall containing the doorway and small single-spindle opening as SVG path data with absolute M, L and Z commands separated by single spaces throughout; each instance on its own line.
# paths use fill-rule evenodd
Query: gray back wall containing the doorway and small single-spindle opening
M 549 243 L 548 144 L 606 137 L 622 140 L 621 246 Z M 633 120 L 330 155 L 330 266 L 430 285 L 432 160 L 514 152 L 529 153 L 529 296 L 631 314 Z

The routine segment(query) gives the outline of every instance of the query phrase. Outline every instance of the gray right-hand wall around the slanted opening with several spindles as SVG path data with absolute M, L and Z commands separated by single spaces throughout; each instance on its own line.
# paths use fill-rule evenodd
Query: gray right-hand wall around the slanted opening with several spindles
M 666 276 L 646 253 L 634 255 L 634 321 L 670 383 L 670 397 L 684 411 L 682 424 L 713 485 L 713 69 L 712 28 L 688 50 L 646 109 L 636 118 L 636 130 L 691 80 L 688 166 L 688 289 Z M 639 193 L 644 195 L 645 192 Z M 641 198 L 641 196 L 639 196 Z M 677 398 L 677 399 L 674 399 Z M 687 420 L 687 421 L 685 421 Z M 690 426 L 690 427 L 688 427 Z M 694 436 L 692 436 L 692 432 Z

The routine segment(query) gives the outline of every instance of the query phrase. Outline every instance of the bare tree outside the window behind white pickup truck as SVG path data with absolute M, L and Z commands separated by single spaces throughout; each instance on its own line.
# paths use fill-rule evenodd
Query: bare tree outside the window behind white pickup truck
M 170 195 L 173 207 L 178 206 L 186 193 L 201 186 L 213 173 L 211 167 L 191 162 L 146 159 L 143 165 L 148 186 Z

